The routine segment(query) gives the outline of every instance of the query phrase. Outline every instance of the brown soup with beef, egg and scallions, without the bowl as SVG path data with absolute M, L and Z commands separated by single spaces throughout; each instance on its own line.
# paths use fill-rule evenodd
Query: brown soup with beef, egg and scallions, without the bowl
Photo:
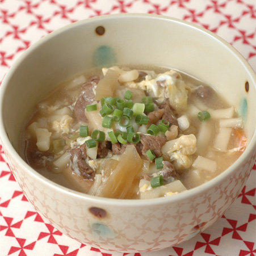
M 242 127 L 236 109 L 190 75 L 115 66 L 76 75 L 37 104 L 20 148 L 24 160 L 62 186 L 148 199 L 222 173 L 245 150 Z

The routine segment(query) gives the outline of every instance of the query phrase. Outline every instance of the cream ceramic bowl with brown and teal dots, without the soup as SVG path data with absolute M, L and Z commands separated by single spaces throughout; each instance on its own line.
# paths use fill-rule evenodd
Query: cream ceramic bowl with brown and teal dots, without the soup
M 211 181 L 168 198 L 96 198 L 42 177 L 19 156 L 20 131 L 33 106 L 74 74 L 118 64 L 166 66 L 215 87 L 244 117 L 250 141 L 245 152 Z M 1 86 L 0 102 L 3 149 L 24 195 L 62 233 L 101 249 L 160 250 L 203 232 L 240 194 L 255 161 L 253 69 L 215 34 L 165 16 L 99 16 L 52 32 L 12 65 Z

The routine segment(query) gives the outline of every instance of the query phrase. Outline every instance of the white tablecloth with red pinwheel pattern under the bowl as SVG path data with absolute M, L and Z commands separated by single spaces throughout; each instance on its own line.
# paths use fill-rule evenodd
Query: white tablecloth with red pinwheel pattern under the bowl
M 30 45 L 91 16 L 141 12 L 173 16 L 215 32 L 256 71 L 255 0 L 0 0 L 0 83 Z M 1 135 L 0 135 L 1 137 Z M 11 174 L 0 144 L 0 255 L 256 256 L 256 166 L 240 196 L 211 228 L 152 253 L 113 253 L 81 244 L 45 223 Z

